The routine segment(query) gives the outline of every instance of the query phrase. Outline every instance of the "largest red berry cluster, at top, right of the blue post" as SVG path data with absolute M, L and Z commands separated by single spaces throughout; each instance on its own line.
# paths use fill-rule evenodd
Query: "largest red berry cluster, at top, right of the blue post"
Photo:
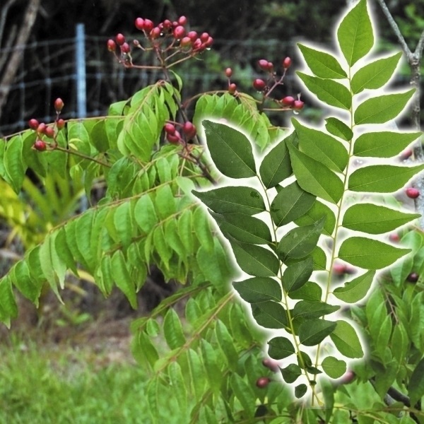
M 140 69 L 164 69 L 196 56 L 211 47 L 213 38 L 208 33 L 197 33 L 187 28 L 188 20 L 185 16 L 180 16 L 177 20 L 169 19 L 155 25 L 152 20 L 146 18 L 136 18 L 135 27 L 143 33 L 143 44 L 139 40 L 133 40 L 132 45 L 143 52 L 153 51 L 160 61 L 160 66 L 134 65 L 131 57 L 131 46 L 126 41 L 126 37 L 119 33 L 114 40 L 107 40 L 107 49 L 117 56 L 118 60 L 127 67 Z M 176 57 L 182 54 L 183 57 Z M 166 63 L 170 58 L 174 58 L 173 63 Z

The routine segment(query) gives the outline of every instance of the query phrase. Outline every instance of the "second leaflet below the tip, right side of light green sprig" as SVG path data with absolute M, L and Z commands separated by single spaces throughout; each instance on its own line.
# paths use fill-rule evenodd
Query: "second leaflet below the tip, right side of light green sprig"
M 405 93 L 380 95 L 365 100 L 355 110 L 353 115 L 355 124 L 384 124 L 394 119 L 404 110 L 413 93 L 415 88 Z

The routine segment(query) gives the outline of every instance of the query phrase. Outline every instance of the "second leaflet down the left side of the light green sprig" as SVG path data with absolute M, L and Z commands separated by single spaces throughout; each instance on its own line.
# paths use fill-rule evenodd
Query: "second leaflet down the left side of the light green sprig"
M 310 76 L 300 71 L 296 71 L 296 74 L 308 90 L 317 95 L 317 98 L 322 102 L 344 110 L 351 109 L 351 93 L 341 83 L 336 83 L 336 81 L 330 79 L 318 78 L 317 76 Z

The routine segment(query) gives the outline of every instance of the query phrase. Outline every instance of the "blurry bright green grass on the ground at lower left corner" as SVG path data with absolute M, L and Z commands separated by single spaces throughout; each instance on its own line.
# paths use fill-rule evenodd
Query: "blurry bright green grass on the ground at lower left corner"
M 0 345 L 0 424 L 151 423 L 146 373 L 130 363 L 96 362 L 84 350 Z M 163 405 L 160 422 L 178 423 L 177 403 Z

